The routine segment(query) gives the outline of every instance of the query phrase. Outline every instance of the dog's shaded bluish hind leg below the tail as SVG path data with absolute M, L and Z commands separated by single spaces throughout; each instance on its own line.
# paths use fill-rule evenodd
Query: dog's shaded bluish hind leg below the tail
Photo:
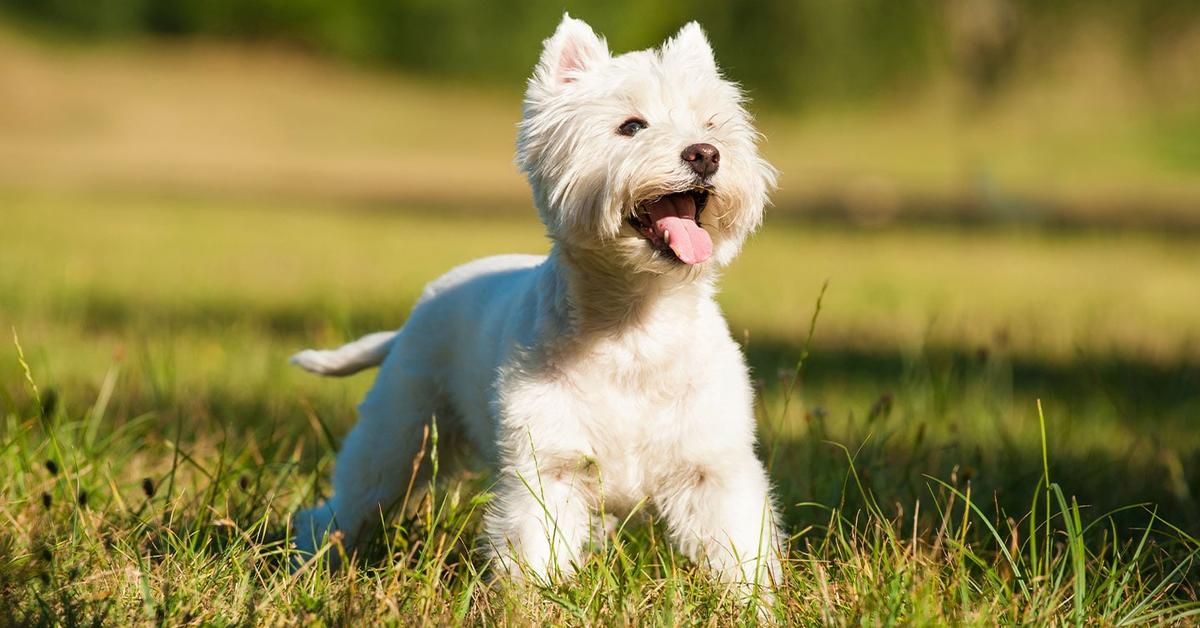
M 403 497 L 436 405 L 436 387 L 424 364 L 402 354 L 384 363 L 337 454 L 334 496 L 296 514 L 294 539 L 302 558 L 334 531 L 341 533 L 343 548 L 353 550 Z M 335 548 L 331 564 L 337 560 Z

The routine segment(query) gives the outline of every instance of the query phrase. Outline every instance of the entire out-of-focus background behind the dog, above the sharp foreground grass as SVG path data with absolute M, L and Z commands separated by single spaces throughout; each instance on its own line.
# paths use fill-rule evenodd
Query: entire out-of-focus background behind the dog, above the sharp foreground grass
M 720 299 L 785 498 L 836 500 L 815 433 L 884 495 L 1030 488 L 1043 399 L 1082 502 L 1200 525 L 1189 0 L 0 0 L 0 323 L 67 403 L 342 433 L 368 378 L 289 352 L 547 249 L 512 155 L 564 8 L 614 52 L 697 19 L 752 98 L 780 190 Z

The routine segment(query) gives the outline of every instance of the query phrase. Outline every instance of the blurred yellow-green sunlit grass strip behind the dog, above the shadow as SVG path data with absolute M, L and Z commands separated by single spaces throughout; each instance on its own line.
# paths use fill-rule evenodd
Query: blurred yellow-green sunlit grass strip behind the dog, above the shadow
M 250 324 L 330 342 L 397 325 L 425 282 L 500 252 L 545 252 L 532 210 L 4 192 L 0 303 L 25 324 Z M 1037 231 L 851 229 L 768 219 L 722 282 L 740 335 L 796 341 L 827 279 L 817 342 L 995 347 L 1069 360 L 1200 357 L 1190 239 Z M 767 306 L 763 306 L 767 304 Z M 328 325 L 335 325 L 329 330 Z M 336 331 L 335 337 L 328 334 Z

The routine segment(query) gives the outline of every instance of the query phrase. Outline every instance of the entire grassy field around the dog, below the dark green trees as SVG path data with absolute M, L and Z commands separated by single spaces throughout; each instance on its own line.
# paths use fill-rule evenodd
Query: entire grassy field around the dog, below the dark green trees
M 1148 77 L 1034 50 L 971 110 L 942 74 L 762 108 L 782 187 L 719 300 L 790 536 L 778 622 L 1200 614 L 1189 49 Z M 348 569 L 288 572 L 372 377 L 288 355 L 398 327 L 454 264 L 547 249 L 518 82 L 455 80 L 0 26 L 0 624 L 762 618 L 644 510 L 572 581 L 490 582 L 481 469 L 418 486 Z M 431 431 L 420 463 L 444 455 Z

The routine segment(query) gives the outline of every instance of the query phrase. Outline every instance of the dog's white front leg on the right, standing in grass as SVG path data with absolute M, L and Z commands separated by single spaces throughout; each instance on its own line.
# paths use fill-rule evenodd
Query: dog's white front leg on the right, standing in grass
M 781 543 L 768 489 L 762 465 L 746 451 L 672 474 L 654 502 L 684 555 L 745 596 L 769 600 Z

